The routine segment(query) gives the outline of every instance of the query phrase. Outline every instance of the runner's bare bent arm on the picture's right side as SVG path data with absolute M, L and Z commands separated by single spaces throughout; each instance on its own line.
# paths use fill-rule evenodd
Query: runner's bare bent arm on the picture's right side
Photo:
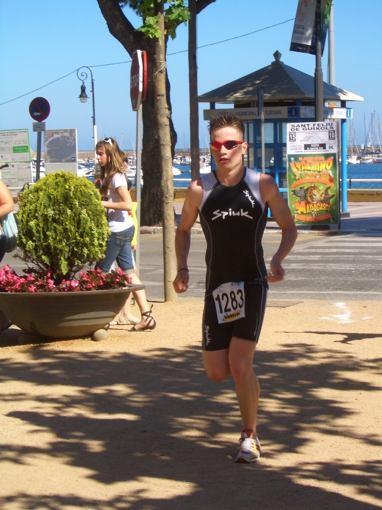
M 284 278 L 285 271 L 281 262 L 293 248 L 297 239 L 297 228 L 290 210 L 281 196 L 276 181 L 270 175 L 260 175 L 260 194 L 263 202 L 268 203 L 272 216 L 281 227 L 280 246 L 270 261 L 270 274 L 266 277 L 268 282 L 275 283 L 280 282 Z

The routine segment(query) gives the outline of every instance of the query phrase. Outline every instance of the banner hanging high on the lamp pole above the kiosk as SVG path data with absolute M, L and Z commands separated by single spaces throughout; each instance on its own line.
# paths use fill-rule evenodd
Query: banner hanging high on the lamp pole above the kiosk
M 291 52 L 316 54 L 316 0 L 298 0 L 296 18 L 294 20 Z M 329 17 L 332 0 L 321 0 L 321 47 L 322 54 L 325 47 L 326 32 L 329 27 Z M 321 54 L 321 56 L 322 56 Z

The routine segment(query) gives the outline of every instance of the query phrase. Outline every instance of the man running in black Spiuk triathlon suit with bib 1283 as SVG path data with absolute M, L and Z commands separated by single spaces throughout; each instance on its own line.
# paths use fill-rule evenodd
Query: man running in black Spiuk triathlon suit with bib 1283
M 236 384 L 243 429 L 236 462 L 256 462 L 260 386 L 253 357 L 264 318 L 268 282 L 284 277 L 281 262 L 291 250 L 297 230 L 275 180 L 244 168 L 248 144 L 235 115 L 210 121 L 211 152 L 216 170 L 190 184 L 176 232 L 176 292 L 188 288 L 190 230 L 198 214 L 207 241 L 206 294 L 203 313 L 203 364 L 214 381 L 231 373 Z M 279 249 L 267 274 L 261 239 L 268 207 L 281 227 Z

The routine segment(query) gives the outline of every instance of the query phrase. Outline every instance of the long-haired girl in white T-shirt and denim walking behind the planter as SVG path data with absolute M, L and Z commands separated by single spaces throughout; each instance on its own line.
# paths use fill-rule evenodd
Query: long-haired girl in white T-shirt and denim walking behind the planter
M 117 260 L 118 266 L 131 278 L 131 283 L 141 285 L 132 261 L 131 241 L 135 227 L 128 214 L 132 210 L 132 201 L 123 172 L 121 150 L 113 138 L 103 138 L 96 145 L 96 154 L 101 167 L 101 204 L 107 209 L 107 223 L 111 231 L 105 257 L 97 262 L 96 268 L 107 272 Z M 133 292 L 133 295 L 141 311 L 141 321 L 130 331 L 154 329 L 156 322 L 151 315 L 152 305 L 149 309 L 144 289 Z

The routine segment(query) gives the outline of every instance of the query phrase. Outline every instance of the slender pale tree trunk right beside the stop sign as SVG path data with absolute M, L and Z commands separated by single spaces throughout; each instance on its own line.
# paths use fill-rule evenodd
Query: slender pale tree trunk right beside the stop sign
M 155 115 L 158 128 L 159 154 L 162 166 L 162 216 L 163 216 L 163 269 L 165 301 L 176 301 L 172 285 L 175 278 L 175 225 L 174 225 L 174 175 L 170 137 L 170 111 L 166 93 L 166 42 L 163 2 L 158 3 L 158 25 L 161 33 L 155 39 L 154 93 Z

